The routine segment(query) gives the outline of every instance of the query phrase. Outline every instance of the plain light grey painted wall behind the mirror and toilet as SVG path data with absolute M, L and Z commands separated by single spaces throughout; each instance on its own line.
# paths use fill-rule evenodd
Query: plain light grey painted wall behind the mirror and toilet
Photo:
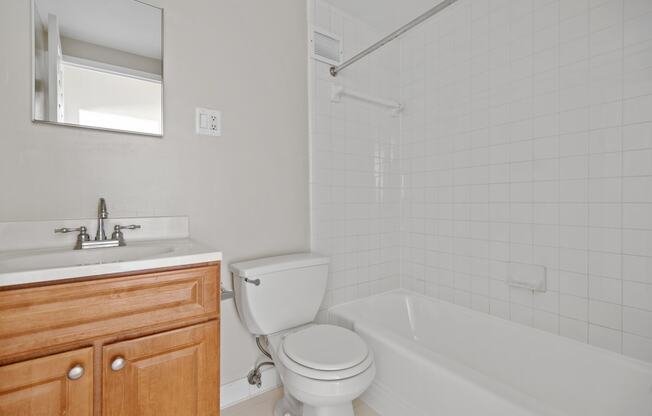
M 30 2 L 1 3 L 0 221 L 92 217 L 104 196 L 112 216 L 188 215 L 227 263 L 307 250 L 305 2 L 152 3 L 165 8 L 163 139 L 33 124 Z M 196 106 L 223 111 L 223 137 L 193 134 Z M 258 354 L 222 306 L 229 382 Z

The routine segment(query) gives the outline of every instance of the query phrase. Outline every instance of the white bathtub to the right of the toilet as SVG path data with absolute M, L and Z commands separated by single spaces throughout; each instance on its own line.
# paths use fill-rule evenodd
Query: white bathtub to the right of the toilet
M 652 415 L 652 364 L 407 291 L 333 307 L 373 349 L 392 415 Z

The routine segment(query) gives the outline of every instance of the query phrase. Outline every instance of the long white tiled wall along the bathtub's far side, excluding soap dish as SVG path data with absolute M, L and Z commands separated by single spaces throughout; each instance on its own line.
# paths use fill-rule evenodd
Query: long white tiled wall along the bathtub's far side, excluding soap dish
M 401 48 L 404 286 L 652 361 L 652 2 L 461 0 Z

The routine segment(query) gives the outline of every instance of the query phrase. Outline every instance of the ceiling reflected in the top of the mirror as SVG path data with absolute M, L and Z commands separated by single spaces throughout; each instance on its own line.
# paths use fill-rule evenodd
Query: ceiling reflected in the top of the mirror
M 161 9 L 136 0 L 35 0 L 47 27 L 59 18 L 61 36 L 161 59 Z

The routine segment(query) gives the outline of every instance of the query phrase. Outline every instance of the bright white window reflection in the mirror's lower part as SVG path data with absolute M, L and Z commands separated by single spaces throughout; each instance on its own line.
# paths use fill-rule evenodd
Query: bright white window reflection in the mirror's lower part
M 161 134 L 161 82 L 64 60 L 66 123 Z

